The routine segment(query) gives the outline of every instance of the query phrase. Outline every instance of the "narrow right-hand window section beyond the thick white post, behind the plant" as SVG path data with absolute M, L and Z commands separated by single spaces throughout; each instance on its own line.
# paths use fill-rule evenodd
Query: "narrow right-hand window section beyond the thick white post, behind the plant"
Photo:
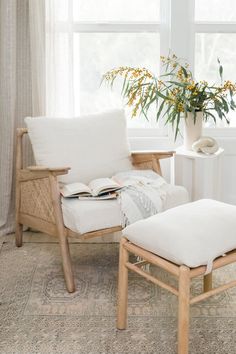
M 216 82 L 217 58 L 224 67 L 224 79 L 236 81 L 236 2 L 235 0 L 195 0 L 195 76 Z M 235 112 L 229 114 L 236 126 Z M 211 125 L 210 125 L 211 126 Z M 219 120 L 218 126 L 226 126 Z

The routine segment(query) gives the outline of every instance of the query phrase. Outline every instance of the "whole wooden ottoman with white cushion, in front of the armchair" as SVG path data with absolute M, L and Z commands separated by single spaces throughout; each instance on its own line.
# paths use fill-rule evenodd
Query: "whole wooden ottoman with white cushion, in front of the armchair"
M 236 262 L 236 206 L 202 199 L 140 220 L 127 226 L 122 234 L 117 328 L 126 328 L 131 270 L 178 297 L 178 354 L 188 354 L 190 305 L 236 286 L 233 280 L 212 288 L 212 271 Z M 129 254 L 139 256 L 142 261 L 131 263 Z M 142 268 L 150 263 L 175 275 L 178 288 Z M 191 279 L 199 275 L 203 275 L 204 291 L 191 297 Z

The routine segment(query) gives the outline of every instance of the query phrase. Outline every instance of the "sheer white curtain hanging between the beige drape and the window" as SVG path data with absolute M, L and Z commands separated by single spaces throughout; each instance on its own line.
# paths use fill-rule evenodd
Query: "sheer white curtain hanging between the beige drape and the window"
M 72 0 L 46 0 L 46 114 L 74 115 Z

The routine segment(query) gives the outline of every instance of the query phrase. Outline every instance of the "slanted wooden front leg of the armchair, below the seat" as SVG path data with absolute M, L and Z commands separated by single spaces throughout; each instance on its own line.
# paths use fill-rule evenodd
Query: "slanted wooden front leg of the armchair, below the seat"
M 70 249 L 67 237 L 59 237 L 59 243 L 61 248 L 62 266 L 66 281 L 66 287 L 69 293 L 73 293 L 75 291 L 75 281 L 72 271 Z

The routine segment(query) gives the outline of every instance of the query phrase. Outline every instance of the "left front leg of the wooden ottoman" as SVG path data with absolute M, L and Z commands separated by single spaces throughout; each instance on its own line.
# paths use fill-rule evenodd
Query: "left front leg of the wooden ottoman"
M 117 328 L 125 329 L 127 326 L 127 301 L 128 301 L 128 269 L 125 263 L 129 259 L 129 253 L 124 248 L 127 242 L 125 238 L 120 241 L 119 255 L 119 279 L 118 279 L 118 304 L 117 304 Z

